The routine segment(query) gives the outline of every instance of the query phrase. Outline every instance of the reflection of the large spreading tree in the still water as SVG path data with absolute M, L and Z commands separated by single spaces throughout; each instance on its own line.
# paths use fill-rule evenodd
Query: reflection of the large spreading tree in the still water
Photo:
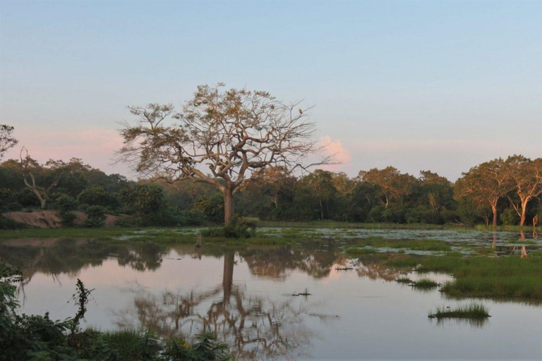
M 248 295 L 233 283 L 234 259 L 234 252 L 224 255 L 222 285 L 205 292 L 166 291 L 157 296 L 136 290 L 134 307 L 116 314 L 117 326 L 189 340 L 210 331 L 242 359 L 291 358 L 293 350 L 299 357 L 315 336 L 304 324 L 311 314 L 308 307 L 292 298 L 277 302 Z

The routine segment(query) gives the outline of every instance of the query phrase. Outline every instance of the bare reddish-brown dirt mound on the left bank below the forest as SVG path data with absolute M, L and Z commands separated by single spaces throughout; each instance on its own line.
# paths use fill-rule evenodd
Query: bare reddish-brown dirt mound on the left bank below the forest
M 77 217 L 74 224 L 83 226 L 87 219 L 87 215 L 83 212 L 73 212 L 73 214 Z M 28 224 L 28 226 L 37 228 L 60 228 L 62 226 L 62 219 L 60 213 L 57 211 L 7 212 L 2 213 L 2 216 L 11 219 L 12 221 Z M 104 226 L 112 227 L 118 220 L 118 216 L 107 214 Z

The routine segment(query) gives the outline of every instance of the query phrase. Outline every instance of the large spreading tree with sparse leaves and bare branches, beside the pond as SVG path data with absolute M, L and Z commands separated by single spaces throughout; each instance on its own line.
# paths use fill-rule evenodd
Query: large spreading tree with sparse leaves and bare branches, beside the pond
M 224 223 L 234 215 L 234 193 L 252 171 L 306 168 L 323 148 L 314 139 L 310 109 L 284 104 L 267 92 L 202 85 L 180 112 L 171 104 L 131 106 L 138 118 L 124 123 L 121 160 L 168 182 L 204 182 L 224 195 Z M 320 157 L 315 164 L 329 163 Z M 207 173 L 210 172 L 210 173 Z

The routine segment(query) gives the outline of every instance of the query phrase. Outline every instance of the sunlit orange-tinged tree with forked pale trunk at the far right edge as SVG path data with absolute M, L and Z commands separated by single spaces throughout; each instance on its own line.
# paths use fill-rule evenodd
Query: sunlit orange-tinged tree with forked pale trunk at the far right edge
M 508 199 L 519 216 L 519 226 L 524 226 L 527 205 L 542 195 L 542 158 L 531 160 L 522 155 L 513 155 L 506 159 L 506 165 L 519 202 L 514 202 L 510 196 Z

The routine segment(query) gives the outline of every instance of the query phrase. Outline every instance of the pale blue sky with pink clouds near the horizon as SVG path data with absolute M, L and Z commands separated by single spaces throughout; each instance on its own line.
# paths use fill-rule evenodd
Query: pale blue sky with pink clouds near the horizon
M 197 85 L 315 106 L 343 164 L 451 181 L 542 157 L 542 1 L 0 1 L 0 123 L 107 173 L 126 106 Z

